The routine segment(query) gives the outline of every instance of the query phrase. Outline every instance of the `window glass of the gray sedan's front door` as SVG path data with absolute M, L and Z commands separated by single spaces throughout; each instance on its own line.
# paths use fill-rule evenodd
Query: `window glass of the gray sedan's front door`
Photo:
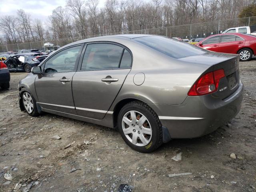
M 58 52 L 46 61 L 44 73 L 75 71 L 76 60 L 80 49 L 81 46 L 75 46 Z

